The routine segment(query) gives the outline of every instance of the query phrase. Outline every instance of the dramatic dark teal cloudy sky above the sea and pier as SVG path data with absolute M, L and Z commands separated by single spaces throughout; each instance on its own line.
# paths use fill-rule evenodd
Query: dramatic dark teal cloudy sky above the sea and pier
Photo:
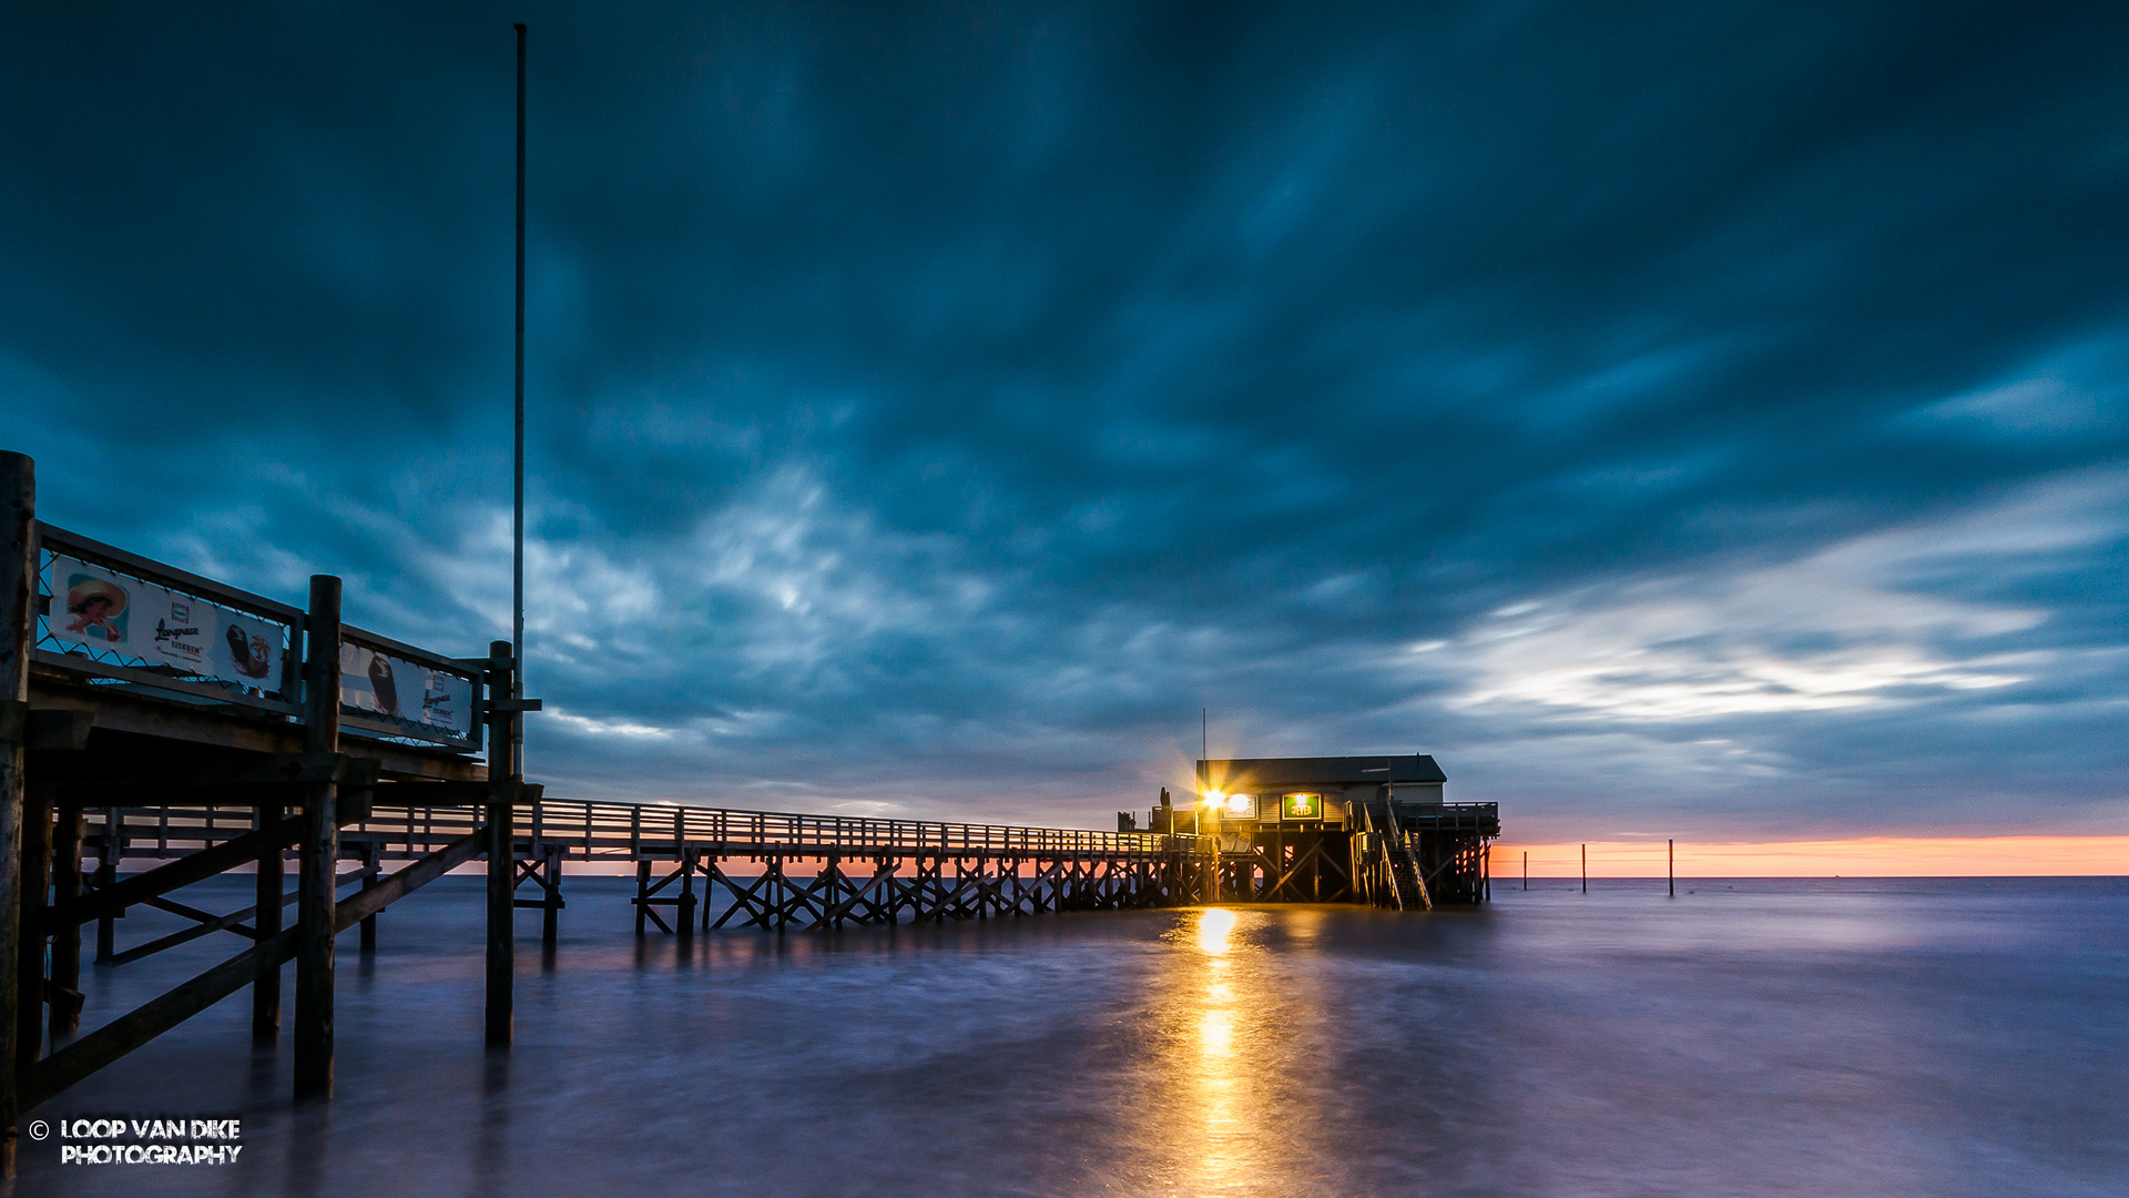
M 509 635 L 519 19 L 549 793 L 2129 833 L 2129 9 L 15 4 L 40 518 Z

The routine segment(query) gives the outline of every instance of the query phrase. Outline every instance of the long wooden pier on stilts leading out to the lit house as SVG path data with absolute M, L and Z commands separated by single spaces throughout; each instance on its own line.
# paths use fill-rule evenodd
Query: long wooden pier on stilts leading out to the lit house
M 634 934 L 832 929 L 1216 902 L 1431 910 L 1486 897 L 1492 804 L 1339 804 L 1248 838 L 1173 814 L 1079 831 L 549 797 L 526 782 L 509 642 L 451 657 L 343 620 L 341 580 L 294 608 L 34 514 L 0 454 L 0 1168 L 17 1115 L 234 993 L 281 1038 L 296 1098 L 332 1094 L 339 936 L 475 863 L 488 878 L 485 1038 L 511 1040 L 515 912 L 554 949 L 564 865 L 632 870 Z M 287 865 L 294 861 L 294 887 Z M 132 865 L 145 865 L 130 870 Z M 249 870 L 253 904 L 185 887 Z M 128 908 L 192 925 L 126 942 Z M 290 910 L 292 908 L 292 910 Z M 287 919 L 292 914 L 294 919 Z M 94 942 L 85 929 L 94 925 Z M 92 1032 L 89 968 L 202 938 L 234 955 Z

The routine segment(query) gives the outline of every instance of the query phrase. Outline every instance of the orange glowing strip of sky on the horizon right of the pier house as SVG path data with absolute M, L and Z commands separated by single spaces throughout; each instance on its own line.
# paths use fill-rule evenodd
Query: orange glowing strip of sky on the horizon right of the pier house
M 1663 842 L 1590 840 L 1592 878 L 1661 878 Z M 1495 883 L 1580 878 L 1580 844 L 1492 846 Z M 1854 840 L 1678 842 L 1680 878 L 2016 878 L 2129 874 L 2129 836 L 1865 836 Z

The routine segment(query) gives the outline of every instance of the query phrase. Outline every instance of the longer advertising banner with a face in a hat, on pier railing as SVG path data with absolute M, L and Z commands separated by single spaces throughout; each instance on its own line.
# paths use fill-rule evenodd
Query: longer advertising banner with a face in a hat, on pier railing
M 51 561 L 45 631 L 60 642 L 262 691 L 281 686 L 281 648 L 287 644 L 287 629 L 273 620 L 64 554 Z

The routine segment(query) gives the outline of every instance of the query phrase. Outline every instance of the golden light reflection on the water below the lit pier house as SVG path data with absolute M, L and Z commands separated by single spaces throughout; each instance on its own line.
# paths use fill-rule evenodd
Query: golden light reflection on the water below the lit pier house
M 1171 1194 L 1256 1194 L 1290 1179 L 1297 1157 L 1290 1102 L 1282 1100 L 1303 995 L 1282 993 L 1267 951 L 1284 912 L 1199 908 L 1167 936 L 1152 1064 L 1160 1128 L 1143 1147 Z

